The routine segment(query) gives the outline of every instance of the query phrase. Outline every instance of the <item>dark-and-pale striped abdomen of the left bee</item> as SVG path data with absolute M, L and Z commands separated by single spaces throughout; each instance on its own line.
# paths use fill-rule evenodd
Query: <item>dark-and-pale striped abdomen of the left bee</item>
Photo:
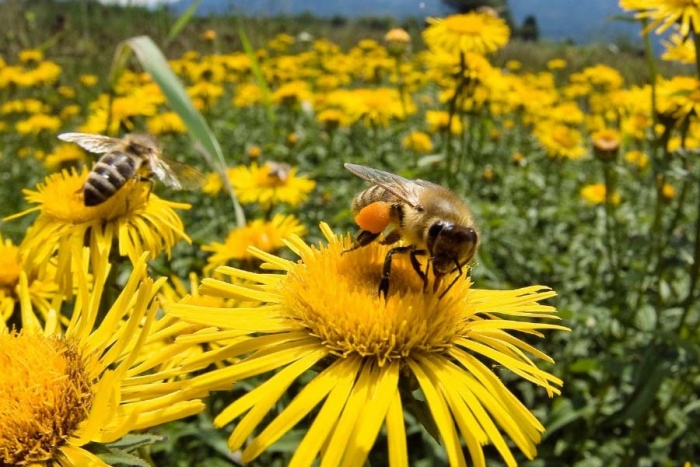
M 85 206 L 97 206 L 107 201 L 134 177 L 138 162 L 121 151 L 108 152 L 97 161 L 83 186 Z

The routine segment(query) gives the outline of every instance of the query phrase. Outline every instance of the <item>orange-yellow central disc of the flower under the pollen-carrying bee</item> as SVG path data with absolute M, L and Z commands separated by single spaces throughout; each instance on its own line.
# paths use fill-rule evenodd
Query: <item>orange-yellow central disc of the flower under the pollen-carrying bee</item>
M 387 246 L 371 244 L 342 254 L 350 245 L 333 242 L 303 255 L 280 281 L 290 318 L 299 321 L 336 355 L 359 354 L 387 359 L 413 351 L 444 352 L 455 335 L 464 333 L 463 312 L 470 283 L 457 280 L 439 299 L 452 278 L 433 293 L 407 255 L 394 255 L 389 296 L 379 296 Z

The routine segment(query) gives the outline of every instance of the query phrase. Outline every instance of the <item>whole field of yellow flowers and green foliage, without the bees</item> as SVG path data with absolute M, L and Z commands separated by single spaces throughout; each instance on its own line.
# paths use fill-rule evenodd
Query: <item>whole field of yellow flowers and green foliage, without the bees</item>
M 620 4 L 672 33 L 634 83 L 499 60 L 490 11 L 1 55 L 0 465 L 700 462 L 700 7 Z M 202 184 L 88 207 L 66 132 L 152 134 Z M 378 295 L 346 162 L 463 198 L 465 278 L 397 254 Z

